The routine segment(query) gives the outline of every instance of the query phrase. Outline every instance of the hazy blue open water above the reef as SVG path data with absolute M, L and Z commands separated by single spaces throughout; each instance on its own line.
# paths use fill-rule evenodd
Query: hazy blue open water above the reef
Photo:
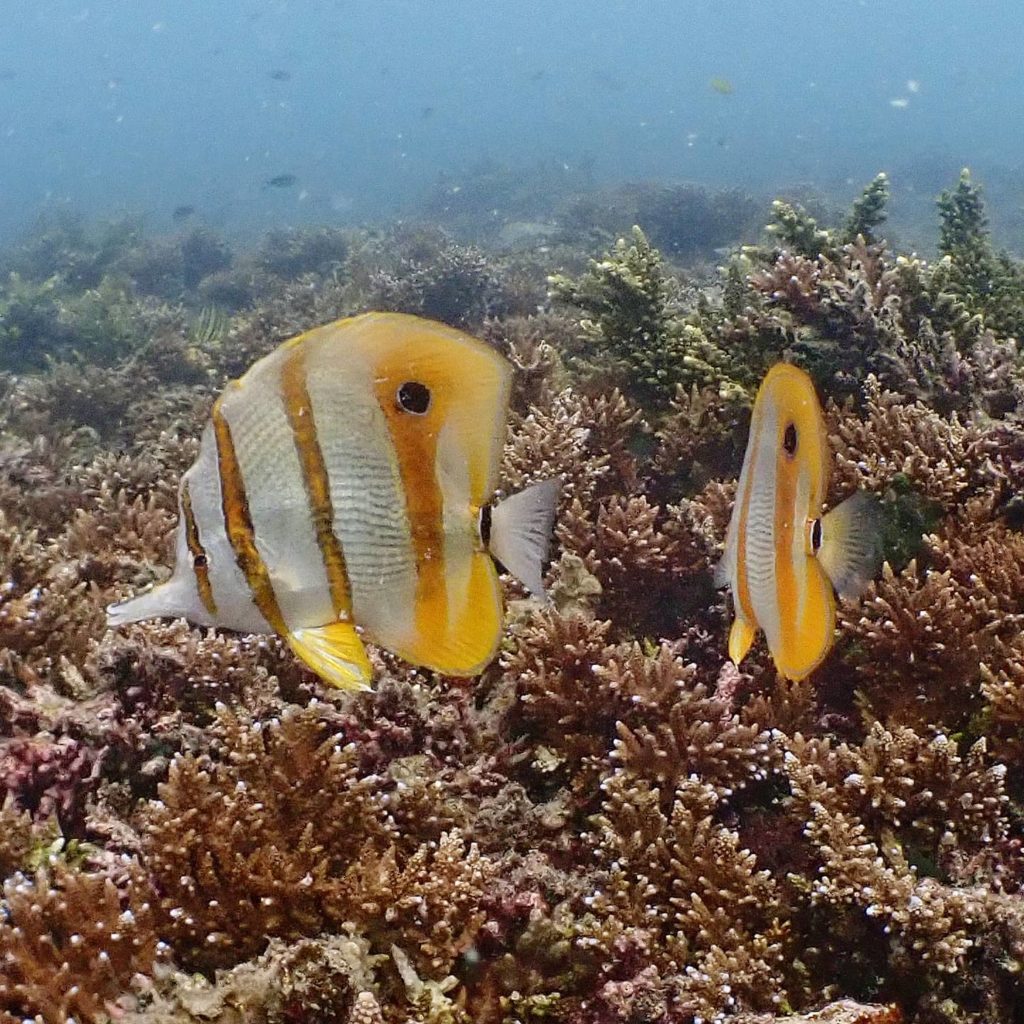
M 758 191 L 852 191 L 887 169 L 897 198 L 928 199 L 970 164 L 1008 209 L 1024 166 L 1017 0 L 3 0 L 0 14 L 0 237 L 65 206 L 158 227 L 179 205 L 225 229 L 353 221 L 481 161 Z M 294 185 L 265 185 L 283 174 Z

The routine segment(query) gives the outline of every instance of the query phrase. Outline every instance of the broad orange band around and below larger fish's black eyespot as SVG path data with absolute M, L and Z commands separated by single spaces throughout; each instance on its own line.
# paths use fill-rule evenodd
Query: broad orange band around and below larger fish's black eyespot
M 437 434 L 446 396 L 411 380 L 403 362 L 384 362 L 375 371 L 374 390 L 394 445 L 416 559 L 416 631 L 421 638 L 442 637 L 449 629 L 449 603 Z

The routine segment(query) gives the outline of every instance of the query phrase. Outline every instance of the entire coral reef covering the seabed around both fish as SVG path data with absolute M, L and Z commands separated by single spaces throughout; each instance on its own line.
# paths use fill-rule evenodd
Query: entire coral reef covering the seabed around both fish
M 586 194 L 574 233 L 510 246 L 544 210 L 477 177 L 433 200 L 476 246 L 67 220 L 3 258 L 0 1021 L 1017 1020 L 1024 271 L 977 187 L 941 198 L 934 261 L 884 241 L 880 176 L 837 226 L 776 204 L 701 278 L 639 228 L 595 258 Z M 496 194 L 509 217 L 471 230 Z M 630 195 L 688 257 L 707 197 Z M 513 362 L 503 486 L 564 480 L 551 604 L 508 581 L 481 676 L 372 650 L 359 694 L 275 638 L 106 631 L 167 572 L 222 382 L 373 305 Z M 782 356 L 825 398 L 829 504 L 861 487 L 886 519 L 801 682 L 760 644 L 727 659 L 712 583 Z

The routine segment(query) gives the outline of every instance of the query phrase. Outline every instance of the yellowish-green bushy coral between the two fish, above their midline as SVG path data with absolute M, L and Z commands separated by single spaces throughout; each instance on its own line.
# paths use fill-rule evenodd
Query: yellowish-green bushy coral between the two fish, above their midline
M 553 300 L 579 310 L 585 351 L 578 369 L 599 366 L 652 412 L 667 410 L 680 385 L 741 388 L 736 377 L 743 375 L 712 337 L 707 318 L 684 313 L 678 283 L 639 227 L 591 260 L 581 278 L 555 274 L 548 285 Z

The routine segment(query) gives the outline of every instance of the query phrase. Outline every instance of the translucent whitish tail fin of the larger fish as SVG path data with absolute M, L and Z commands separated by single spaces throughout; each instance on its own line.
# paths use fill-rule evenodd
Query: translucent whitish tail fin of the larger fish
M 492 555 L 535 597 L 547 600 L 544 562 L 561 493 L 558 478 L 542 480 L 506 498 L 490 515 Z

